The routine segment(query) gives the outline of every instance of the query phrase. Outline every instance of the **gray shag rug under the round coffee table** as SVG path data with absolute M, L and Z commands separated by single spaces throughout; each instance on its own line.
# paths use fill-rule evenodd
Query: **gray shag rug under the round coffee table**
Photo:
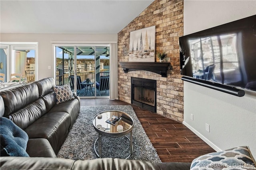
M 148 162 L 161 162 L 146 132 L 144 131 L 132 106 L 81 106 L 80 113 L 68 133 L 68 137 L 59 150 L 58 158 L 73 160 L 90 160 L 98 156 L 94 151 L 94 142 L 98 133 L 92 125 L 93 117 L 102 111 L 118 110 L 128 113 L 134 120 L 132 130 L 133 152 L 130 158 Z M 130 133 L 128 134 L 129 137 Z M 96 143 L 98 152 L 98 141 Z M 130 141 L 126 137 L 102 137 L 102 157 L 126 158 L 130 154 Z

